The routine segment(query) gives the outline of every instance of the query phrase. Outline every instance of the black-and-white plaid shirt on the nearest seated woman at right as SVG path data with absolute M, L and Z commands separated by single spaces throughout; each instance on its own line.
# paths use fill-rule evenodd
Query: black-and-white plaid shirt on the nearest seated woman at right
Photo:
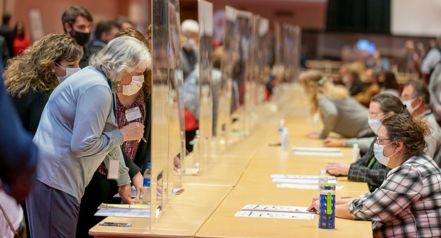
M 348 208 L 355 220 L 372 221 L 374 237 L 441 237 L 440 185 L 441 169 L 433 159 L 414 156 Z

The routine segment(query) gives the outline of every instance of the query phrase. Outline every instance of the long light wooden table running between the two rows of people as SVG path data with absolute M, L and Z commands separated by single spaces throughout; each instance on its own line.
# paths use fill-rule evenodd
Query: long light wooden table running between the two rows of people
M 130 222 L 130 228 L 95 226 L 95 237 L 372 237 L 371 223 L 336 219 L 336 229 L 318 228 L 313 220 L 235 217 L 247 204 L 309 206 L 317 190 L 277 188 L 270 175 L 319 174 L 328 161 L 350 162 L 351 150 L 342 148 L 342 157 L 299 156 L 269 146 L 277 140 L 277 125 L 285 118 L 291 146 L 320 147 L 321 140 L 307 139 L 312 131 L 307 100 L 297 87 L 289 103 L 278 105 L 278 112 L 259 115 L 256 128 L 227 151 L 210 158 L 199 176 L 185 176 L 185 192 L 175 195 L 166 210 L 149 229 L 148 218 L 107 217 L 104 221 Z M 337 197 L 368 192 L 366 183 L 338 178 L 342 190 Z

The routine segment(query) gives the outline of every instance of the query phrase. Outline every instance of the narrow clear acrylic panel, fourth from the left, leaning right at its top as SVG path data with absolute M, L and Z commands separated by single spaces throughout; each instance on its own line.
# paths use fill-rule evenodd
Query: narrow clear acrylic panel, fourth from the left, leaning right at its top
M 233 68 L 237 64 L 238 34 L 235 30 L 235 9 L 225 6 L 225 29 L 223 34 L 223 53 L 221 57 L 221 82 L 219 86 L 218 113 L 216 125 L 216 152 L 224 151 L 229 144 L 232 104 L 232 77 Z

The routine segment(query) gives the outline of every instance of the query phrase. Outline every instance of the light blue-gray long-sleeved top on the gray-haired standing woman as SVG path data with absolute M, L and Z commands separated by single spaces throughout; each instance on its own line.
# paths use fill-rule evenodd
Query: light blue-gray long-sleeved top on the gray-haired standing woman
M 109 153 L 120 161 L 118 185 L 130 183 L 113 112 L 112 90 L 106 77 L 92 66 L 61 83 L 49 97 L 34 143 L 40 149 L 37 180 L 81 201 L 84 189 Z

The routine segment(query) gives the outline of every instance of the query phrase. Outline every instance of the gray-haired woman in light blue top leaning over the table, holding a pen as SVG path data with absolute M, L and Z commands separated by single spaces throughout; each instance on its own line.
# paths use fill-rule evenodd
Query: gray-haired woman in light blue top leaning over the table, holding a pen
M 151 56 L 139 40 L 120 37 L 94 55 L 90 65 L 56 87 L 43 110 L 34 142 L 44 159 L 26 198 L 32 237 L 75 237 L 84 188 L 103 160 L 123 200 L 133 204 L 120 146 L 140 140 L 144 125 L 135 122 L 118 130 L 115 93 L 139 91 Z

